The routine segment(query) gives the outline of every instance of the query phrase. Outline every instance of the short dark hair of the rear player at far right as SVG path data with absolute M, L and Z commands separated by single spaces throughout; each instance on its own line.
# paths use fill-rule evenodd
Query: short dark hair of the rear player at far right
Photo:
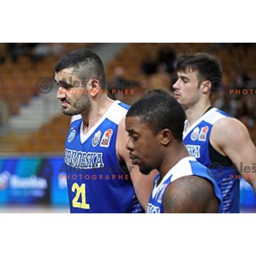
M 212 83 L 211 93 L 218 91 L 221 85 L 222 68 L 215 55 L 206 52 L 197 52 L 181 56 L 177 61 L 177 71 L 197 71 L 198 82 L 209 80 Z

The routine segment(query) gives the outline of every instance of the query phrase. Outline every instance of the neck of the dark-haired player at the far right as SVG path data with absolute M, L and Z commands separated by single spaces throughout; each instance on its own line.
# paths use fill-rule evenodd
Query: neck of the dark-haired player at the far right
M 186 109 L 186 118 L 188 120 L 188 125 L 186 126 L 186 129 L 188 129 L 191 125 L 193 125 L 194 122 L 196 122 L 201 116 L 204 115 L 204 113 L 209 109 L 211 106 L 211 103 L 209 99 L 205 101 L 199 101 L 195 105 L 192 105 L 191 107 Z

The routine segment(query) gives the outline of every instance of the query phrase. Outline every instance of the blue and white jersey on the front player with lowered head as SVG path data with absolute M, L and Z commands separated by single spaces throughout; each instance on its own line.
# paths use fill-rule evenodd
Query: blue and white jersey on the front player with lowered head
M 170 183 L 180 177 L 195 175 L 209 180 L 214 188 L 215 196 L 220 201 L 219 212 L 222 211 L 222 195 L 221 191 L 214 179 L 207 175 L 207 168 L 195 160 L 194 157 L 184 157 L 161 180 L 157 186 L 157 181 L 160 174 L 157 174 L 154 179 L 154 188 L 148 202 L 147 213 L 163 213 L 163 196 L 164 192 Z

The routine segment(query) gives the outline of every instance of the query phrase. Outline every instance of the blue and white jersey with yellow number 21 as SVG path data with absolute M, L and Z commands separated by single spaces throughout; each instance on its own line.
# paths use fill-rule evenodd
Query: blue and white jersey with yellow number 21
M 128 105 L 115 101 L 87 134 L 81 115 L 73 116 L 65 143 L 65 171 L 71 213 L 144 212 L 129 170 L 116 156 L 119 122 Z

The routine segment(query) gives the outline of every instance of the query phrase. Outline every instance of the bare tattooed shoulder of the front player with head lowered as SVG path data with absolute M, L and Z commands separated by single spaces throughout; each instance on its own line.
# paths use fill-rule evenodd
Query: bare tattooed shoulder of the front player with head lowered
M 218 207 L 212 184 L 198 176 L 178 178 L 163 196 L 164 213 L 218 212 Z

